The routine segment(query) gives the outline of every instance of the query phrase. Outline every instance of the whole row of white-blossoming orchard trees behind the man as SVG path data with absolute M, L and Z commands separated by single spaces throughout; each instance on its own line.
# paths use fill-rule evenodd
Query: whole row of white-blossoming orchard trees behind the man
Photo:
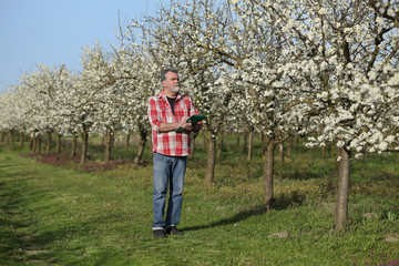
M 352 153 L 399 149 L 398 27 L 397 0 L 176 1 L 121 27 L 111 51 L 84 48 L 79 74 L 38 65 L 22 75 L 0 98 L 0 130 L 81 134 L 83 143 L 92 132 L 133 131 L 145 144 L 149 98 L 161 89 L 161 69 L 173 65 L 208 115 L 208 182 L 221 131 L 265 136 L 265 204 L 278 143 L 293 134 L 310 146 L 335 143 L 341 227 Z

